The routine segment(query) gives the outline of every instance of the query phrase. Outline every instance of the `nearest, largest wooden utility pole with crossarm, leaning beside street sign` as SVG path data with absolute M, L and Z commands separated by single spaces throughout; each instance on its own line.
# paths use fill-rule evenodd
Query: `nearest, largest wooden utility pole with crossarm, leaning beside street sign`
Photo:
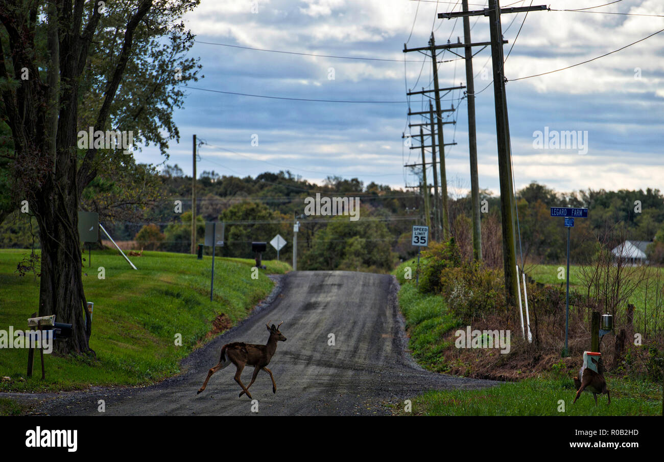
M 478 11 L 460 11 L 457 13 L 438 13 L 439 18 L 469 17 L 484 15 L 489 17 L 491 33 L 491 60 L 493 64 L 493 98 L 496 114 L 496 139 L 498 148 L 498 175 L 500 179 L 501 215 L 503 221 L 503 265 L 505 271 L 505 290 L 508 303 L 515 305 L 519 297 L 516 239 L 514 233 L 514 202 L 512 183 L 512 158 L 509 142 L 509 123 L 507 121 L 507 98 L 505 98 L 505 76 L 503 74 L 503 31 L 501 13 L 522 13 L 545 10 L 546 5 L 535 7 L 515 7 L 501 9 L 498 0 L 489 0 L 489 8 Z

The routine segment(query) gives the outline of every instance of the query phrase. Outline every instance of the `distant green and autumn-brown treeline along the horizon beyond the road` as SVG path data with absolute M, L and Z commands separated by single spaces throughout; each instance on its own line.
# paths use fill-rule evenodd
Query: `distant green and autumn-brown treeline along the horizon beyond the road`
M 153 166 L 127 164 L 104 172 L 88 186 L 81 208 L 96 211 L 116 241 L 133 241 L 136 249 L 187 253 L 191 249 L 192 179 L 177 166 L 158 172 Z M 348 216 L 306 216 L 307 197 L 359 197 L 360 219 Z M 482 251 L 490 267 L 502 265 L 500 199 L 481 191 Z M 434 201 L 431 201 L 434 203 Z M 591 261 L 601 245 L 617 246 L 624 239 L 655 241 L 649 247 L 654 263 L 664 261 L 664 196 L 646 191 L 574 191 L 559 193 L 537 182 L 517 191 L 519 261 L 561 263 L 566 253 L 566 229 L 550 217 L 549 207 L 586 207 L 587 219 L 577 219 L 572 232 L 571 258 Z M 270 241 L 277 234 L 288 242 L 280 251 L 291 261 L 293 221 L 299 221 L 298 269 L 390 271 L 400 259 L 416 253 L 410 230 L 424 223 L 420 195 L 357 178 L 327 177 L 317 185 L 291 172 L 265 172 L 256 177 L 201 173 L 197 179 L 197 243 L 203 243 L 206 221 L 225 223 L 219 255 L 253 257 L 252 241 Z M 461 255 L 472 255 L 469 195 L 449 198 L 450 230 Z M 0 225 L 0 246 L 36 247 L 37 227 L 29 213 L 9 213 Z M 105 237 L 104 237 L 105 239 Z M 101 237 L 98 245 L 101 245 Z M 209 250 L 206 249 L 208 252 Z M 266 259 L 276 258 L 268 245 Z

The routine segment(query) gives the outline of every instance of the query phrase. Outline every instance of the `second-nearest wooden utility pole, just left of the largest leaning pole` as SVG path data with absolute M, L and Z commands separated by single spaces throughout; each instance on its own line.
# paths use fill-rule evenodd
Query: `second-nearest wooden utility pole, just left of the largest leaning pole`
M 461 0 L 464 12 L 468 0 Z M 465 85 L 468 102 L 468 150 L 470 152 L 470 191 L 473 214 L 473 258 L 482 259 L 482 227 L 479 215 L 479 176 L 477 175 L 477 132 L 475 132 L 475 82 L 473 82 L 473 51 L 470 41 L 470 18 L 463 17 L 463 43 L 465 45 Z

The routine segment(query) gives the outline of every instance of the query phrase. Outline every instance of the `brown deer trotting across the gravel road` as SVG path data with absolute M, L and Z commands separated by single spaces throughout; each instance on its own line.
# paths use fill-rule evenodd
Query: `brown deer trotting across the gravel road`
M 231 363 L 236 367 L 235 382 L 238 382 L 242 387 L 242 392 L 240 392 L 239 395 L 240 397 L 246 393 L 248 398 L 252 399 L 248 388 L 254 383 L 256 376 L 258 376 L 258 371 L 260 370 L 264 370 L 270 374 L 270 378 L 272 379 L 272 393 L 276 393 L 277 384 L 274 383 L 272 371 L 266 368 L 266 366 L 270 364 L 270 360 L 272 359 L 272 356 L 274 356 L 274 352 L 277 350 L 277 342 L 286 342 L 286 337 L 284 337 L 284 334 L 279 331 L 282 324 L 284 324 L 284 321 L 280 322 L 278 326 L 272 324 L 272 327 L 270 327 L 269 322 L 268 324 L 265 324 L 268 331 L 270 331 L 270 338 L 268 338 L 268 343 L 265 345 L 234 342 L 222 346 L 219 364 L 209 370 L 208 376 L 197 394 L 205 390 L 207 382 L 210 380 L 210 377 L 212 377 L 214 372 L 223 369 L 226 366 L 230 366 Z M 254 366 L 254 375 L 251 378 L 251 382 L 249 382 L 249 385 L 246 387 L 242 384 L 242 380 L 240 380 L 240 375 L 242 375 L 244 366 Z

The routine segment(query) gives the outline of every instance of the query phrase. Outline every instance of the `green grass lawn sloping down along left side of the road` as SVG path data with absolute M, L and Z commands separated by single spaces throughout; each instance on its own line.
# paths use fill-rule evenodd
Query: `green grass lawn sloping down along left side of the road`
M 27 252 L 0 251 L 0 329 L 12 325 L 23 330 L 27 318 L 37 311 L 39 278 L 15 273 Z M 179 361 L 201 344 L 216 316 L 224 313 L 236 324 L 272 290 L 265 273 L 290 270 L 286 263 L 264 261 L 267 271 L 252 279 L 253 260 L 217 257 L 210 302 L 211 259 L 146 251 L 131 258 L 135 271 L 116 251 L 93 252 L 92 267 L 84 267 L 83 278 L 86 298 L 94 302 L 90 348 L 96 359 L 44 355 L 46 380 L 42 381 L 39 355 L 35 355 L 35 373 L 27 379 L 27 350 L 3 349 L 0 376 L 13 382 L 0 382 L 0 391 L 130 386 L 177 374 Z M 104 267 L 106 279 L 98 279 L 98 267 Z M 182 346 L 175 345 L 176 334 L 181 334 Z

